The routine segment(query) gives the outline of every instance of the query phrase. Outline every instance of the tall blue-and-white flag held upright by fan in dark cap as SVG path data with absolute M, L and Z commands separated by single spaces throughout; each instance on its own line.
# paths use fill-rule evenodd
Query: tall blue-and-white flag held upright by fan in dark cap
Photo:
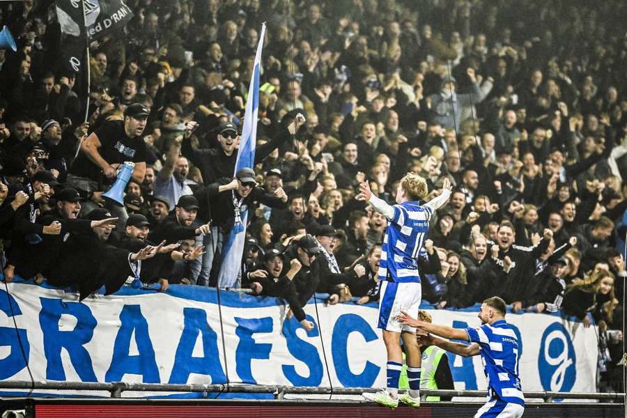
M 257 113 L 259 109 L 259 72 L 261 70 L 261 49 L 263 49 L 263 38 L 265 37 L 265 23 L 261 25 L 261 36 L 255 54 L 255 65 L 248 88 L 248 99 L 246 101 L 246 113 L 244 114 L 244 126 L 240 137 L 240 148 L 238 159 L 235 162 L 233 176 L 240 169 L 245 167 L 253 168 L 255 162 L 255 146 L 257 139 Z M 233 192 L 235 194 L 235 192 Z M 237 210 L 237 196 L 233 196 L 235 209 Z M 218 286 L 221 288 L 232 288 L 240 281 L 242 254 L 244 254 L 244 242 L 246 240 L 246 224 L 248 222 L 248 208 L 242 205 L 239 208 L 239 217 L 235 217 L 235 225 L 229 233 L 229 238 L 224 244 L 222 251 L 222 268 L 218 276 Z M 238 219 L 239 218 L 239 219 Z

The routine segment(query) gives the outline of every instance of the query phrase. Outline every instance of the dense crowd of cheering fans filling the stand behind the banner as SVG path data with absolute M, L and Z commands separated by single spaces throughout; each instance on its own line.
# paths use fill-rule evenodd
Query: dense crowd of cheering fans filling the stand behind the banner
M 420 252 L 424 300 L 499 295 L 513 312 L 592 319 L 603 382 L 618 385 L 627 39 L 612 28 L 624 2 L 126 4 L 123 33 L 91 42 L 87 108 L 54 2 L 0 5 L 18 44 L 0 50 L 7 280 L 81 297 L 129 276 L 216 286 L 216 254 L 247 210 L 242 287 L 283 297 L 309 328 L 316 291 L 378 300 L 387 219 L 357 185 L 394 203 L 413 171 L 426 200 L 455 185 Z M 255 167 L 234 178 L 262 22 Z M 103 192 L 124 162 L 116 204 Z

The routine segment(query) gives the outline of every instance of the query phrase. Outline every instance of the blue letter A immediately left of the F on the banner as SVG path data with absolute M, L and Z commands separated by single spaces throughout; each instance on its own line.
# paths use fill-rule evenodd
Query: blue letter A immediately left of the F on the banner
M 183 334 L 176 348 L 168 383 L 186 384 L 190 373 L 211 376 L 212 384 L 226 383 L 217 348 L 217 334 L 207 322 L 207 312 L 198 308 L 183 308 L 183 318 Z M 203 341 L 203 357 L 192 357 L 198 334 Z

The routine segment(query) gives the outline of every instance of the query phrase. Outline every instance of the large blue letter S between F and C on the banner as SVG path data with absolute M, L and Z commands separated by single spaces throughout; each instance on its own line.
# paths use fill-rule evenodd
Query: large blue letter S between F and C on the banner
M 314 323 L 314 329 L 307 331 L 307 336 L 319 336 L 320 331 L 314 318 L 307 315 L 307 320 Z M 283 334 L 290 354 L 309 368 L 309 377 L 300 376 L 300 374 L 296 373 L 296 368 L 291 364 L 284 364 L 281 366 L 281 369 L 283 369 L 283 374 L 287 380 L 294 386 L 319 386 L 320 382 L 322 382 L 324 371 L 320 355 L 318 355 L 316 346 L 298 338 L 296 330 L 300 328 L 300 323 L 295 318 L 286 319 L 283 323 Z

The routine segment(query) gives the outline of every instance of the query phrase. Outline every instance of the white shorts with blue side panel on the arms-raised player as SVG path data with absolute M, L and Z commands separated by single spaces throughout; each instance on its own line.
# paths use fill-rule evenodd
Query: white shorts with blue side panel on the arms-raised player
M 422 288 L 415 281 L 408 283 L 383 281 L 381 283 L 377 327 L 392 332 L 416 332 L 416 328 L 399 323 L 396 320 L 396 316 L 403 311 L 412 318 L 417 319 L 421 297 Z

